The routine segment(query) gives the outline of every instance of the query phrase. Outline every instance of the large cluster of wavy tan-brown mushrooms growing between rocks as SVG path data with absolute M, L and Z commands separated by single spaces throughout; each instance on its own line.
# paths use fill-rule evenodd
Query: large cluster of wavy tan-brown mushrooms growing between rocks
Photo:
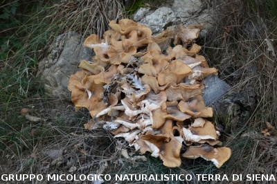
M 100 125 L 167 167 L 181 165 L 181 152 L 221 167 L 231 149 L 219 147 L 220 131 L 205 119 L 213 109 L 204 104 L 203 79 L 217 75 L 217 69 L 197 55 L 201 46 L 193 41 L 199 28 L 181 25 L 154 37 L 150 28 L 129 19 L 109 26 L 103 39 L 93 34 L 84 41 L 95 56 L 82 60 L 82 70 L 69 80 L 75 109 L 85 107 L 93 117 L 84 127 Z M 168 46 L 169 37 L 174 47 Z

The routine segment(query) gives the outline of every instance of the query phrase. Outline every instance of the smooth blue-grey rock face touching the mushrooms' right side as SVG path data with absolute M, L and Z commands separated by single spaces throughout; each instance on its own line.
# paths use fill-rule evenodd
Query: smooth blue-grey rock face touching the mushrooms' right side
M 203 99 L 206 106 L 210 106 L 213 102 L 219 100 L 222 95 L 226 94 L 229 89 L 231 89 L 229 84 L 220 80 L 220 78 L 215 75 L 206 77 L 205 85 Z

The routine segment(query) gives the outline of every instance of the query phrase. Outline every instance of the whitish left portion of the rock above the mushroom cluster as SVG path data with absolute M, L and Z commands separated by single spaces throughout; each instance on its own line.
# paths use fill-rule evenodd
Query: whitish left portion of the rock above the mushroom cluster
M 141 19 L 140 23 L 151 28 L 153 33 L 163 30 L 166 24 L 175 21 L 175 13 L 168 7 L 161 7 Z

